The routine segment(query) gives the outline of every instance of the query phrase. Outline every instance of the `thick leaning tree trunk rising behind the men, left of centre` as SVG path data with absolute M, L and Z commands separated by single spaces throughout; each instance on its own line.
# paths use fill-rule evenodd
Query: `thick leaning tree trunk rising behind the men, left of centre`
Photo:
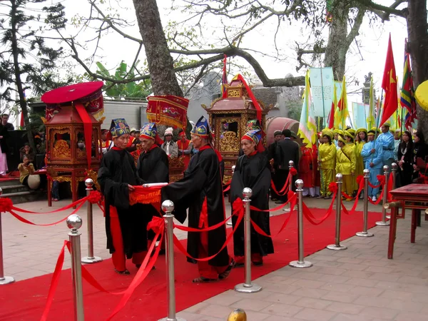
M 163 32 L 156 0 L 133 0 L 155 95 L 183 96 Z

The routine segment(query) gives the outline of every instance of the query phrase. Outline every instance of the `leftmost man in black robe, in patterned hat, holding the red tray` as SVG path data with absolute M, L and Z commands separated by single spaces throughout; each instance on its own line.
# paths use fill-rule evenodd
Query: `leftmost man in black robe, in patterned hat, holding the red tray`
M 106 199 L 107 248 L 115 271 L 128 275 L 126 258 L 132 258 L 140 267 L 147 254 L 147 222 L 141 204 L 129 205 L 129 191 L 142 182 L 133 157 L 126 151 L 129 126 L 125 119 L 113 119 L 108 136 L 113 138 L 114 146 L 104 154 L 98 170 L 98 183 Z

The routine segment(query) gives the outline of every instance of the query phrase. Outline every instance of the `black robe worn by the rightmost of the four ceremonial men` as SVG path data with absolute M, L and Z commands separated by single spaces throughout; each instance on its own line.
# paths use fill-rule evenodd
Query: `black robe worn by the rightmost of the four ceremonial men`
M 269 188 L 270 188 L 270 165 L 263 153 L 256 153 L 253 156 L 241 156 L 233 173 L 230 184 L 231 203 L 237 198 L 243 198 L 243 189 L 251 188 L 251 205 L 260 210 L 269 209 Z M 251 210 L 251 219 L 267 235 L 270 235 L 269 213 Z M 233 216 L 232 223 L 235 228 L 237 218 Z M 235 256 L 244 256 L 244 221 L 242 220 L 235 234 L 233 235 L 233 250 Z M 271 238 L 267 238 L 256 233 L 251 226 L 251 253 L 259 253 L 262 256 L 273 253 L 273 243 Z

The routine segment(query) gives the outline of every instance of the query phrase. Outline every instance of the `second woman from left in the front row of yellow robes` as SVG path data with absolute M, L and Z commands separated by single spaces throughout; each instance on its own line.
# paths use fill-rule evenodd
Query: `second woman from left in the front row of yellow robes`
M 340 149 L 337 151 L 336 156 L 336 173 L 341 173 L 342 178 L 342 192 L 347 193 L 350 198 L 346 200 L 352 200 L 352 194 L 354 193 L 355 185 L 355 144 L 351 134 L 345 131 L 345 138 L 339 137 L 337 146 Z M 351 138 L 351 139 L 350 139 Z

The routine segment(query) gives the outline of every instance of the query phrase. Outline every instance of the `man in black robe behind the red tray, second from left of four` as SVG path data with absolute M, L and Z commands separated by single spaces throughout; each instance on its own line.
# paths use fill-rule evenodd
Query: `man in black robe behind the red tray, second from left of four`
M 156 123 L 146 123 L 140 131 L 139 139 L 143 152 L 140 154 L 137 163 L 138 176 L 144 183 L 169 183 L 169 163 L 168 156 L 165 151 L 156 145 L 156 141 L 160 141 Z M 160 204 L 158 204 L 160 205 Z M 161 208 L 156 208 L 155 204 L 142 204 L 144 217 L 147 223 L 150 222 L 153 216 L 160 216 Z M 155 207 L 156 206 L 156 207 Z M 155 237 L 152 230 L 148 231 L 148 247 Z M 164 254 L 162 249 L 159 254 Z

